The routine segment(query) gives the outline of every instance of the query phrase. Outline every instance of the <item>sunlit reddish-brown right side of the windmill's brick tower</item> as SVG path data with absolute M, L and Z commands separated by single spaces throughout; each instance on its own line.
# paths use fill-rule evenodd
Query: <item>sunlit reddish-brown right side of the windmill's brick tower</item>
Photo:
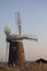
M 24 48 L 22 42 L 17 42 L 17 63 L 23 64 L 24 62 Z

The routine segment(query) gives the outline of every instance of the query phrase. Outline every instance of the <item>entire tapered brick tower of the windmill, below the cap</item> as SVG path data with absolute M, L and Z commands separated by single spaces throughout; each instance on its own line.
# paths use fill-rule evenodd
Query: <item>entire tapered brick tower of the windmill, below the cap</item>
M 24 48 L 22 42 L 11 42 L 9 50 L 9 64 L 16 62 L 23 64 L 24 62 Z

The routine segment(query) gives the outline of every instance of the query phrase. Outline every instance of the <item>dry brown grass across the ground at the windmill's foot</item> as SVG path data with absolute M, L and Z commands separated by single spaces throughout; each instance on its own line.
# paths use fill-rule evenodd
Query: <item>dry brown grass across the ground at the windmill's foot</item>
M 13 68 L 1 63 L 0 71 L 47 71 L 47 63 L 25 63 Z

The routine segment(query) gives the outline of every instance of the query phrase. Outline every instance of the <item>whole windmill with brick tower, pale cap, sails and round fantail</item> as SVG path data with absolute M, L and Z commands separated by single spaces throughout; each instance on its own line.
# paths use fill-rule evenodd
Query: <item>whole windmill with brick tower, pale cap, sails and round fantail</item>
M 37 40 L 36 37 L 22 35 L 22 25 L 20 20 L 20 13 L 17 12 L 17 26 L 19 26 L 19 34 L 11 34 L 9 27 L 4 28 L 4 33 L 7 35 L 7 42 L 10 43 L 9 47 L 9 66 L 10 64 L 23 64 L 24 62 L 24 48 L 23 48 L 23 39 L 31 39 Z

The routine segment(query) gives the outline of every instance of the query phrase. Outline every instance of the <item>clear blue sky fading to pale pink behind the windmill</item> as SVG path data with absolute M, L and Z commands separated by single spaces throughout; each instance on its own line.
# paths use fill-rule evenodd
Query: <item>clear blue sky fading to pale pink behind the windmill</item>
M 3 28 L 16 33 L 20 12 L 22 34 L 36 35 L 38 42 L 23 40 L 25 60 L 47 60 L 47 0 L 0 0 L 0 60 L 5 61 L 7 42 Z

